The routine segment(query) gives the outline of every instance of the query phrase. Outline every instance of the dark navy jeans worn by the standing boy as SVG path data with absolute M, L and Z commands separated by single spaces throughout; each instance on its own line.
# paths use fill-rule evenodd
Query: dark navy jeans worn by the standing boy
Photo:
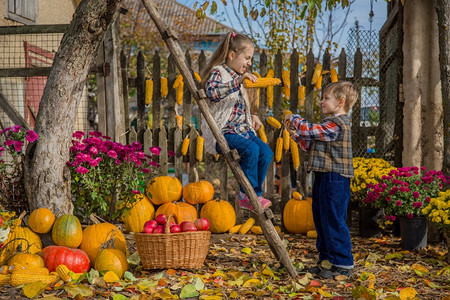
M 315 172 L 312 210 L 319 261 L 352 267 L 352 243 L 346 224 L 350 179 L 333 172 Z

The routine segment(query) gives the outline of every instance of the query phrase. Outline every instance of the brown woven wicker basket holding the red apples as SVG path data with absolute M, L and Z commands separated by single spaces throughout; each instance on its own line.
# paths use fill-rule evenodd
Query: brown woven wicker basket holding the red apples
M 209 231 L 134 234 L 144 269 L 199 269 L 208 253 L 210 237 Z

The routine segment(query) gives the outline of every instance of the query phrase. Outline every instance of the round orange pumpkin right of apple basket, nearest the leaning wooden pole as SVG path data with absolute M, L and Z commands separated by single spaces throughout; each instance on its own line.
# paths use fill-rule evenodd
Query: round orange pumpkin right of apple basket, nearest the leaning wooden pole
M 206 202 L 200 211 L 200 217 L 209 220 L 209 231 L 212 233 L 227 232 L 236 224 L 236 212 L 225 200 Z

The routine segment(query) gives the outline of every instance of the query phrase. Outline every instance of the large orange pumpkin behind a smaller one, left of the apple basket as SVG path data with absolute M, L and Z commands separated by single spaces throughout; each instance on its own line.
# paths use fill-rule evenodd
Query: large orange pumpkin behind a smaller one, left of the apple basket
M 110 239 L 114 240 L 114 248 L 127 254 L 127 243 L 122 232 L 111 223 L 99 223 L 86 227 L 83 230 L 83 241 L 80 249 L 87 253 L 91 263 L 95 263 L 95 258 L 100 252 L 100 247 Z

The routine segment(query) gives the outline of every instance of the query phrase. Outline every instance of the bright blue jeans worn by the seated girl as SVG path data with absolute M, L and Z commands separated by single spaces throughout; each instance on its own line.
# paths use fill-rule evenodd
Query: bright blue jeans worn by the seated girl
M 256 195 L 261 196 L 262 185 L 266 179 L 267 169 L 272 162 L 273 152 L 270 147 L 261 141 L 253 132 L 249 132 L 250 139 L 239 134 L 226 133 L 225 139 L 230 149 L 236 149 L 241 157 L 239 165 L 247 176 Z M 216 144 L 217 153 L 222 153 L 219 144 Z M 244 192 L 240 187 L 241 192 Z

